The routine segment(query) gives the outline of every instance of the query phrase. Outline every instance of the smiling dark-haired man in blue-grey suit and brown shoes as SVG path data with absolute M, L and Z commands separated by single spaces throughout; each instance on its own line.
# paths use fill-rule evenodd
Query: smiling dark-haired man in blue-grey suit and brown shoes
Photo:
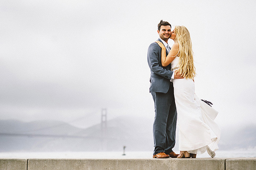
M 168 39 L 171 35 L 171 24 L 161 20 L 158 24 L 159 41 L 165 45 L 166 56 L 170 51 Z M 155 103 L 155 120 L 153 124 L 154 153 L 153 158 L 176 158 L 173 152 L 175 145 L 177 112 L 174 101 L 172 78 L 183 78 L 171 71 L 171 65 L 161 64 L 161 47 L 154 42 L 148 47 L 147 62 L 151 70 L 150 93 Z

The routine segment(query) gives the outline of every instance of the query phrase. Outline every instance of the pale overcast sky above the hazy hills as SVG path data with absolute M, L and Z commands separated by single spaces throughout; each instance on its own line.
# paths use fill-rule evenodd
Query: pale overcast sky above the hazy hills
M 190 31 L 196 94 L 217 123 L 256 124 L 255 9 L 255 0 L 1 0 L 0 119 L 85 127 L 107 108 L 108 119 L 153 121 L 147 49 L 162 19 Z

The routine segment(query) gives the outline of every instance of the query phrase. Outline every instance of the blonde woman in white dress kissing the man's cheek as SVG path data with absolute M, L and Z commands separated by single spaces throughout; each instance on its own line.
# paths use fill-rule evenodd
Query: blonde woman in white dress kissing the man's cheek
M 162 48 L 162 66 L 171 63 L 173 71 L 178 70 L 184 77 L 172 79 L 179 128 L 180 155 L 177 158 L 196 158 L 196 154 L 205 151 L 213 158 L 220 137 L 220 129 L 214 122 L 218 112 L 195 95 L 195 67 L 189 31 L 184 26 L 176 26 L 170 39 L 174 40 L 174 45 L 167 56 L 165 46 L 160 41 L 157 43 Z

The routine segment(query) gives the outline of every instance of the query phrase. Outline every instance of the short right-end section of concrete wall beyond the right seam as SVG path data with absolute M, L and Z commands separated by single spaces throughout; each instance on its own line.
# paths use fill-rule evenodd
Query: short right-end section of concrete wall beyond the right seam
M 226 170 L 256 169 L 256 158 L 230 158 L 226 160 Z

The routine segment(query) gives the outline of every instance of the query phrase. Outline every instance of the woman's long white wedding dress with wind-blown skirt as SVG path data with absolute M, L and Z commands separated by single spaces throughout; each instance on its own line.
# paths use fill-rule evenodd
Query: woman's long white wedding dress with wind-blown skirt
M 172 68 L 178 67 L 178 61 L 179 57 L 172 61 Z M 221 134 L 220 128 L 214 122 L 218 112 L 196 96 L 193 80 L 173 79 L 173 87 L 180 130 L 179 150 L 192 154 L 207 151 L 214 157 Z

